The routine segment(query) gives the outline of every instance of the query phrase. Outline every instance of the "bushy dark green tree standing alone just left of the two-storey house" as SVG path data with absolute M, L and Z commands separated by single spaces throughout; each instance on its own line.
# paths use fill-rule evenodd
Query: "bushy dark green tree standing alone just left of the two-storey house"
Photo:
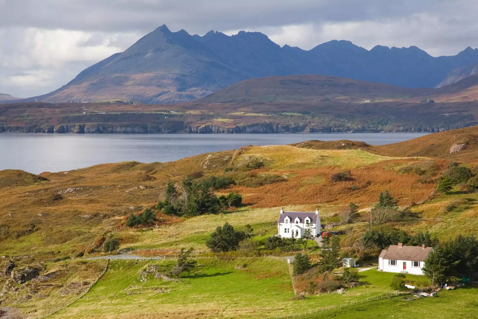
M 211 233 L 211 236 L 206 239 L 206 246 L 213 253 L 228 252 L 237 250 L 239 242 L 245 238 L 246 234 L 243 231 L 235 231 L 234 227 L 226 222 L 222 227 L 217 226 Z

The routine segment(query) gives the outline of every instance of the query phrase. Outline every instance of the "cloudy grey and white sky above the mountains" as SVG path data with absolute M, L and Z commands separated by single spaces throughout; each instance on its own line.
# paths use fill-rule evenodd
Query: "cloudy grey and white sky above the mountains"
M 439 56 L 478 47 L 477 16 L 477 0 L 0 0 L 0 93 L 48 93 L 162 24 L 257 31 L 305 50 L 336 39 Z

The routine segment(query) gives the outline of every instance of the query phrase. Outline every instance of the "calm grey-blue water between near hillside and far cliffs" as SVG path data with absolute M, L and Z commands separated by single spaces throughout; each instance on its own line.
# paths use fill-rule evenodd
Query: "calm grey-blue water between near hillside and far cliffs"
M 14 134 L 0 133 L 0 170 L 39 174 L 101 163 L 168 162 L 240 146 L 281 145 L 308 140 L 355 140 L 381 145 L 424 133 L 316 134 Z

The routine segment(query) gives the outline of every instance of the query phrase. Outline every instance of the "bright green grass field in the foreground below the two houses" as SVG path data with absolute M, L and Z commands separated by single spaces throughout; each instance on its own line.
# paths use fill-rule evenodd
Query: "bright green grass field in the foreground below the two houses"
M 165 269 L 174 261 L 161 261 Z M 247 264 L 243 269 L 234 269 L 236 265 Z M 136 261 L 114 261 L 110 263 L 108 272 L 80 300 L 57 312 L 51 318 L 266 318 L 287 315 L 298 315 L 299 311 L 317 308 L 334 307 L 350 303 L 351 300 L 366 300 L 390 292 L 387 287 L 393 274 L 371 269 L 361 274 L 366 277 L 363 285 L 348 289 L 343 295 L 321 294 L 306 296 L 304 300 L 290 300 L 293 295 L 287 265 L 282 261 L 269 258 L 244 258 L 235 261 L 217 261 L 215 259 L 199 259 L 194 274 L 184 276 L 182 283 L 164 282 L 150 277 L 141 281 L 139 273 L 148 264 Z M 414 276 L 413 276 L 414 277 Z M 420 277 L 423 279 L 424 277 Z M 467 311 L 472 293 L 476 289 L 460 289 L 441 292 L 439 298 L 405 301 L 373 301 L 364 306 L 354 306 L 361 310 L 349 308 L 337 316 L 346 316 L 355 311 L 355 318 L 365 318 L 369 313 L 378 315 L 388 309 L 391 317 L 367 318 L 418 318 L 403 317 L 402 311 L 390 307 L 403 303 L 416 311 L 420 305 L 427 305 L 430 314 L 436 303 L 445 303 L 452 307 L 452 300 L 463 298 L 463 309 Z M 444 297 L 442 297 L 444 296 Z M 443 299 L 442 299 L 443 298 Z M 442 301 L 443 300 L 443 301 Z M 474 304 L 470 304 L 472 307 Z M 439 306 L 441 307 L 441 306 Z M 473 306 L 473 307 L 476 307 Z M 410 309 L 412 309 L 410 308 Z M 370 309 L 370 310 L 369 310 Z M 334 310 L 336 311 L 336 310 Z M 428 311 L 428 310 L 427 310 Z M 355 313 L 354 312 L 354 313 Z M 332 313 L 332 311 L 331 311 Z M 403 312 L 406 313 L 406 312 Z M 466 312 L 463 312 L 464 314 Z M 303 312 L 304 314 L 304 312 Z M 392 314 L 396 314 L 393 317 Z M 410 313 L 412 314 L 412 313 Z M 362 317 L 359 317 L 362 315 Z M 423 315 L 423 313 L 422 313 Z M 345 317 L 344 317 L 345 318 Z M 461 318 L 461 317 L 458 317 Z M 466 317 L 472 318 L 472 317 Z

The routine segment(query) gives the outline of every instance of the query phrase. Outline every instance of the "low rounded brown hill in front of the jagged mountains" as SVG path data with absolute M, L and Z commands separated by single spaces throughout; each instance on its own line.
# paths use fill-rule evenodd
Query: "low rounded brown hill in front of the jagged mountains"
M 252 78 L 198 99 L 197 103 L 260 102 L 462 102 L 478 100 L 478 74 L 443 88 L 403 88 L 345 77 L 296 75 Z

